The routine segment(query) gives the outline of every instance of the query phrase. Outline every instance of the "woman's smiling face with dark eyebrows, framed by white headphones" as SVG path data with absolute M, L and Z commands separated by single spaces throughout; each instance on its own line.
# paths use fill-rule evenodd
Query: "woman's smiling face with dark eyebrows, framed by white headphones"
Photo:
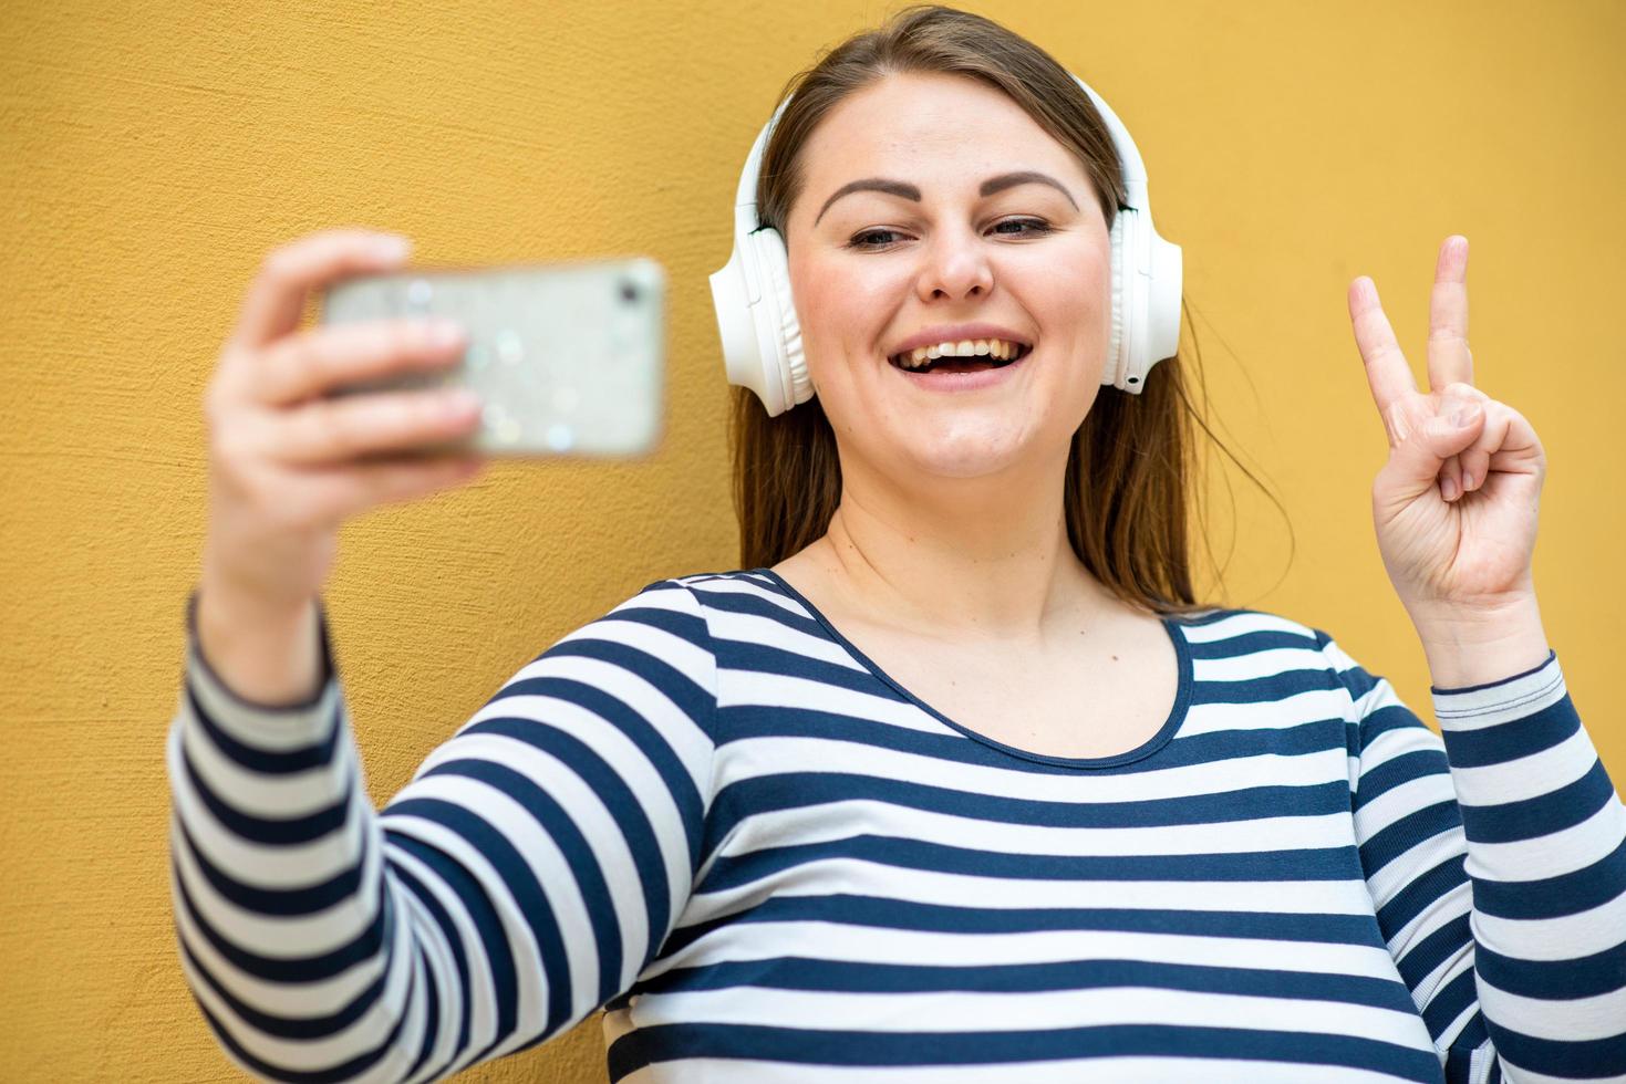
M 808 371 L 852 457 L 883 476 L 974 478 L 1065 463 L 1101 387 L 1111 242 L 1083 166 L 1000 91 L 891 75 L 847 99 L 802 148 L 785 228 Z M 998 184 L 1013 172 L 1049 177 Z M 880 180 L 893 192 L 857 189 Z M 993 182 L 993 184 L 990 184 Z M 891 356 L 985 338 L 1031 349 L 977 375 L 915 375 Z M 950 364 L 967 364 L 969 359 Z M 980 387 L 951 387 L 980 380 Z

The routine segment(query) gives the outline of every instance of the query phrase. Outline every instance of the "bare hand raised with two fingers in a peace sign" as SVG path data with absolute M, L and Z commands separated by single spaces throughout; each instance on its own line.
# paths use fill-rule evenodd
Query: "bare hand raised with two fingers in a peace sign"
M 1546 453 L 1512 406 L 1473 387 L 1468 239 L 1446 237 L 1429 301 L 1429 392 L 1361 276 L 1350 320 L 1389 462 L 1372 484 L 1372 520 L 1389 579 L 1415 624 L 1493 616 L 1535 598 L 1530 561 Z M 1437 484 L 1436 484 L 1437 481 Z

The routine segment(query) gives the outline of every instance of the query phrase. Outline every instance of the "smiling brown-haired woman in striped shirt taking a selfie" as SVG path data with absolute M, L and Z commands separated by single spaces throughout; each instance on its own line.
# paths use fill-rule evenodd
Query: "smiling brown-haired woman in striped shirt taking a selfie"
M 1535 605 L 1541 445 L 1472 385 L 1465 242 L 1428 393 L 1350 294 L 1442 744 L 1320 629 L 1195 603 L 1179 359 L 1101 392 L 1120 174 L 1070 76 L 911 8 L 795 91 L 761 206 L 816 395 L 737 392 L 748 567 L 554 644 L 380 813 L 320 585 L 338 520 L 470 471 L 354 458 L 473 413 L 302 403 L 459 341 L 294 332 L 398 265 L 377 237 L 252 284 L 169 743 L 180 957 L 233 1060 L 436 1079 L 606 1008 L 615 1081 L 1626 1074 L 1626 811 Z M 1011 169 L 1047 180 L 980 190 Z M 915 190 L 837 195 L 875 177 Z M 967 323 L 1023 348 L 938 362 L 980 387 L 894 359 Z

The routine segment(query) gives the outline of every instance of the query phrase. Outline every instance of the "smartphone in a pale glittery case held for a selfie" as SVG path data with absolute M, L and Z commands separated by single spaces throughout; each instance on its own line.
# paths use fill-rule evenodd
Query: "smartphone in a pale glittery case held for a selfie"
M 649 257 L 486 268 L 421 267 L 340 280 L 320 323 L 449 317 L 455 366 L 350 384 L 364 392 L 468 387 L 468 437 L 411 455 L 641 457 L 660 439 L 667 273 Z

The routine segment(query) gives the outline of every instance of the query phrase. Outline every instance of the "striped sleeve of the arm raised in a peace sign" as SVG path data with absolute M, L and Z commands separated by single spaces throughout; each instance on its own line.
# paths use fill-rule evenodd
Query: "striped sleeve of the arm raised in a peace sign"
M 1441 735 L 1325 632 L 1356 842 L 1449 1084 L 1626 1081 L 1626 809 L 1556 652 L 1431 687 Z

